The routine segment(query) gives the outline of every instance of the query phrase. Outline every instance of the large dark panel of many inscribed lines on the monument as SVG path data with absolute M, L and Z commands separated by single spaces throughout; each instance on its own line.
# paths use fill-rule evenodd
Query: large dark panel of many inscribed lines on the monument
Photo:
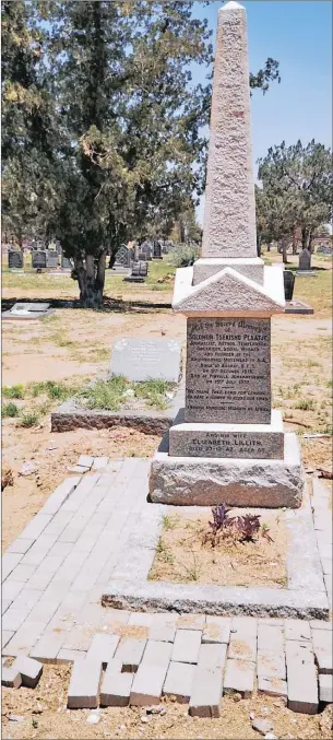
M 186 422 L 269 424 L 271 321 L 189 318 Z

